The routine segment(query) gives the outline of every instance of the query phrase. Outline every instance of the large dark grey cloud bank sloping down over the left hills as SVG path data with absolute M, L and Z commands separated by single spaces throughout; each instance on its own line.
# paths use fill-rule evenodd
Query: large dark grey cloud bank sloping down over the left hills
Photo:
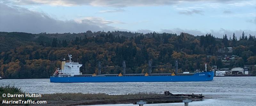
M 81 19 L 60 21 L 49 17 L 44 13 L 30 11 L 25 8 L 7 6 L 0 3 L 0 31 L 18 31 L 29 33 L 64 33 L 64 32 L 85 32 L 86 30 L 116 30 L 106 24 L 114 23 L 103 19 Z

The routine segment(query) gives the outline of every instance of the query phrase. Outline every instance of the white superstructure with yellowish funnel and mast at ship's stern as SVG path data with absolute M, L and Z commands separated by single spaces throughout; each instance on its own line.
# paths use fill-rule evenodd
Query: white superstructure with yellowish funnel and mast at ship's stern
M 78 62 L 73 62 L 71 60 L 72 55 L 69 55 L 69 62 L 66 63 L 65 59 L 61 62 L 61 70 L 59 70 L 60 68 L 58 68 L 53 76 L 59 76 L 59 77 L 65 77 L 65 76 L 74 76 L 74 75 L 82 75 L 82 73 L 80 72 L 80 67 L 82 66 L 82 64 L 79 64 Z M 65 64 L 65 65 L 64 65 Z

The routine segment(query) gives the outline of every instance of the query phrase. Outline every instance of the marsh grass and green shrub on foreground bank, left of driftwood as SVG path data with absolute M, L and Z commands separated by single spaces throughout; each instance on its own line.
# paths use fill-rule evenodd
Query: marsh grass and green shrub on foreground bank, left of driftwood
M 2 97 L 6 94 L 6 97 Z M 7 94 L 23 94 L 24 97 L 7 97 Z M 56 93 L 56 94 L 42 94 L 42 97 L 31 98 L 25 97 L 25 92 L 23 92 L 19 87 L 15 86 L 1 86 L 0 87 L 0 101 L 17 101 L 17 100 L 46 100 L 46 101 L 95 101 L 95 100 L 122 100 L 122 99 L 141 99 L 141 98 L 156 98 L 162 97 L 163 94 L 157 93 L 135 93 L 135 94 L 123 94 L 123 95 L 109 95 L 105 93 L 98 94 L 83 94 L 83 93 Z

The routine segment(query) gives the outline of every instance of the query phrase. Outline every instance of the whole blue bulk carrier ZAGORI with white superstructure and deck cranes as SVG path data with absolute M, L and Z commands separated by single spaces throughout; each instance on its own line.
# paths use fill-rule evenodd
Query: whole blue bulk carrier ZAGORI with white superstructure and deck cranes
M 78 82 L 188 82 L 188 81 L 212 81 L 214 72 L 206 71 L 198 73 L 177 73 L 178 61 L 175 63 L 175 73 L 165 74 L 151 74 L 152 67 L 149 67 L 146 74 L 125 74 L 125 61 L 123 61 L 123 74 L 101 74 L 101 68 L 99 68 L 98 74 L 86 74 L 83 75 L 80 72 L 82 64 L 73 62 L 71 60 L 72 55 L 69 56 L 69 62 L 63 59 L 61 62 L 61 70 L 57 68 L 53 76 L 50 77 L 50 82 L 53 83 L 78 83 Z M 152 62 L 149 61 L 149 66 Z M 99 63 L 101 67 L 101 63 Z

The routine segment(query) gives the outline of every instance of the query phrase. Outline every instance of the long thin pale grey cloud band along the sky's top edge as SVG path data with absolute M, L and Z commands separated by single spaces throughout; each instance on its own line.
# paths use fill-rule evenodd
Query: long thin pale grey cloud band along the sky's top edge
M 167 0 L 16 0 L 13 3 L 17 5 L 61 5 L 61 6 L 75 6 L 75 5 L 92 5 L 92 6 L 107 6 L 107 7 L 128 7 L 128 6 L 148 6 L 148 5 L 172 5 L 180 1 Z

